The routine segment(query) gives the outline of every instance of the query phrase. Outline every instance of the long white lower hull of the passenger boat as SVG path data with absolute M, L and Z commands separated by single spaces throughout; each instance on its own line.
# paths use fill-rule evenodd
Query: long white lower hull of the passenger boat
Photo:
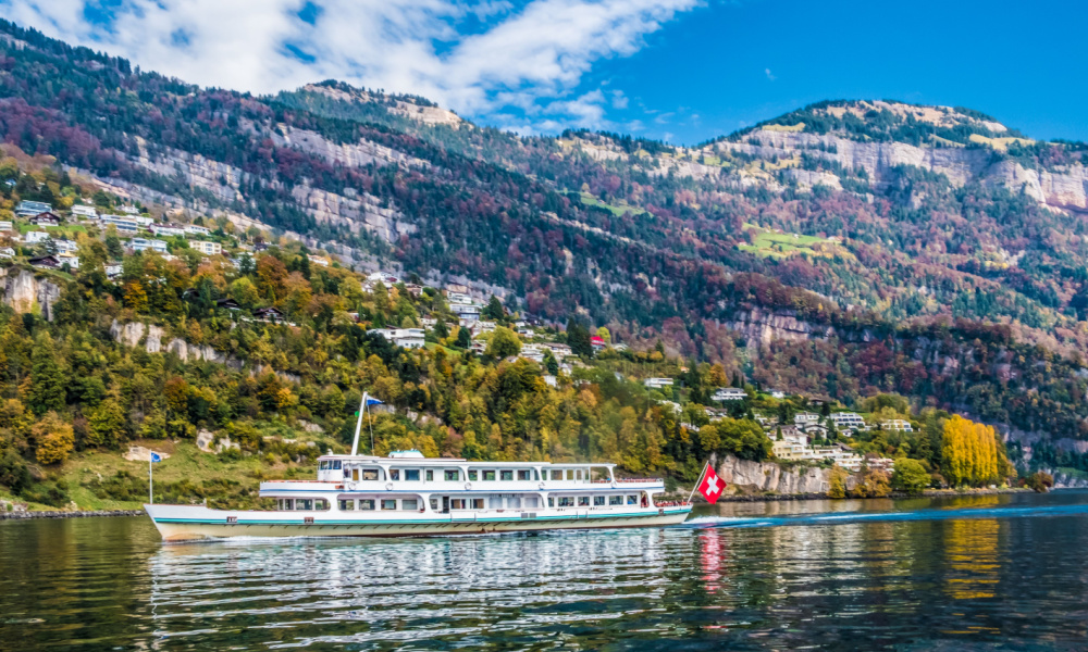
M 258 512 L 210 510 L 195 505 L 144 505 L 165 541 L 233 537 L 434 537 L 526 532 L 552 529 L 663 527 L 683 523 L 691 506 L 617 511 L 553 510 L 419 513 L 392 517 L 381 512 Z

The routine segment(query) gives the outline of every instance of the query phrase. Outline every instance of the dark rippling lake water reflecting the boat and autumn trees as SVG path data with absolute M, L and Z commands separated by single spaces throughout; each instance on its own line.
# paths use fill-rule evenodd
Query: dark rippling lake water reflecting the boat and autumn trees
M 1081 491 L 441 539 L 0 522 L 0 650 L 1085 650 L 1086 543 Z

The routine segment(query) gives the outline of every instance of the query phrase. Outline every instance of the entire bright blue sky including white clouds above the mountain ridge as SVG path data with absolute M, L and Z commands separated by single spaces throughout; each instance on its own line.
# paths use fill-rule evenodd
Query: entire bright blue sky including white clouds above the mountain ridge
M 197 84 L 332 77 L 522 133 L 693 143 L 845 98 L 1088 140 L 1088 8 L 1071 1 L 0 0 L 0 14 Z

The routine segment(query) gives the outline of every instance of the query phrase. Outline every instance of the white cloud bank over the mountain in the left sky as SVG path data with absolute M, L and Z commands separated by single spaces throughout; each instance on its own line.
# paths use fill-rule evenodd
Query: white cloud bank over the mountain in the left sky
M 0 14 L 205 86 L 263 93 L 336 78 L 422 95 L 465 115 L 512 106 L 536 122 L 551 113 L 601 126 L 608 101 L 580 88 L 585 74 L 633 54 L 700 2 L 311 1 L 320 8 L 308 12 L 313 24 L 298 15 L 306 0 L 0 0 Z M 96 11 L 112 17 L 96 24 L 86 17 Z M 465 24 L 471 33 L 459 32 Z M 613 106 L 626 102 L 613 96 Z

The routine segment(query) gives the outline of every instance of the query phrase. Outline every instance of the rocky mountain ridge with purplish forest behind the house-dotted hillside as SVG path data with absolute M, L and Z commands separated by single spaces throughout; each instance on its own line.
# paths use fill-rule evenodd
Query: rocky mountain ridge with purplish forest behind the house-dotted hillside
M 466 283 L 752 381 L 1088 438 L 1088 146 L 833 101 L 695 147 L 323 82 L 202 89 L 0 23 L 0 136 L 165 213 Z M 1036 447 L 1038 448 L 1038 447 Z

